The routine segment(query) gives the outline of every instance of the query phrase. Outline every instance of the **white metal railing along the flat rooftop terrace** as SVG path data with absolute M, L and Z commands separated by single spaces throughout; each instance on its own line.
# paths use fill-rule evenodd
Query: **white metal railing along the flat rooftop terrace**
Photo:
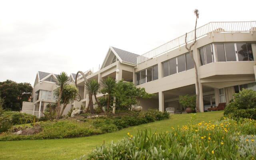
M 200 38 L 210 33 L 212 33 L 212 36 L 213 36 L 213 32 L 253 32 L 253 31 L 256 31 L 256 21 L 210 22 L 208 24 L 205 24 L 204 26 L 196 28 L 196 37 Z M 170 50 L 183 46 L 185 44 L 185 36 L 186 34 L 178 38 L 175 38 L 174 40 L 171 40 L 157 48 L 154 48 L 153 50 L 150 50 L 149 52 L 146 52 L 141 56 L 138 56 L 137 64 L 140 64 L 148 59 L 154 58 L 156 56 L 159 56 L 160 54 L 163 54 L 165 52 L 168 52 Z M 191 32 L 188 32 L 187 42 L 192 42 L 193 40 L 194 40 L 194 30 Z

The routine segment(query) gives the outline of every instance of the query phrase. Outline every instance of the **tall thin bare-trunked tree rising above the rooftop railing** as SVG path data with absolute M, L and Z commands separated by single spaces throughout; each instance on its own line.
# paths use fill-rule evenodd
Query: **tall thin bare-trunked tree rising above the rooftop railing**
M 196 24 L 197 24 L 197 19 L 199 18 L 199 10 L 195 9 L 194 10 L 194 14 L 196 15 Z M 191 50 L 192 46 L 194 46 L 196 44 L 196 25 L 195 25 L 195 29 L 194 29 L 194 42 L 188 47 L 188 42 L 187 42 L 187 33 L 186 33 L 186 37 L 185 37 L 185 43 L 186 43 L 186 49 L 189 51 L 189 53 L 192 56 L 192 61 L 194 63 L 194 67 L 195 67 L 195 73 L 196 73 L 196 110 L 197 112 L 200 112 L 199 110 L 199 94 L 200 94 L 200 90 L 199 90 L 199 82 L 198 82 L 198 70 L 197 70 L 197 66 L 196 66 L 196 62 L 194 60 L 194 56 L 193 56 L 193 52 Z

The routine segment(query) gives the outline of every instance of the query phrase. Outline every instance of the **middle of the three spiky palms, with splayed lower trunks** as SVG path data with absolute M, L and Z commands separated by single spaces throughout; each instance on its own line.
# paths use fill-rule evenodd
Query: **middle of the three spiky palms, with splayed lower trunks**
M 88 94 L 89 94 L 89 103 L 88 103 L 88 106 L 87 106 L 85 112 L 87 113 L 88 110 L 89 110 L 89 107 L 93 104 L 93 103 L 92 103 L 92 95 L 94 95 L 94 98 L 95 98 L 95 100 L 96 100 L 96 102 L 97 102 L 97 104 L 98 104 L 98 107 L 100 107 L 101 110 L 102 110 L 102 107 L 101 107 L 101 105 L 100 105 L 100 103 L 98 102 L 98 99 L 97 99 L 97 97 L 96 97 L 96 93 L 97 93 L 97 92 L 99 91 L 99 89 L 100 89 L 100 84 L 98 83 L 98 81 L 96 81 L 96 80 L 94 80 L 94 79 L 88 81 L 88 82 L 85 84 L 85 88 L 86 88 L 86 90 L 87 90 L 87 92 L 88 92 Z M 93 108 L 90 108 L 90 112 L 91 112 L 91 113 L 93 112 Z M 103 110 L 102 110 L 102 112 L 103 112 Z

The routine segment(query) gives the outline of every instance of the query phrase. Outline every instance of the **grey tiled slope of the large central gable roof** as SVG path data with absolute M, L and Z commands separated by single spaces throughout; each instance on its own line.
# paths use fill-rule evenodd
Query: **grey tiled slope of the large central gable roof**
M 125 50 L 121 50 L 115 47 L 112 48 L 115 50 L 116 54 L 118 54 L 118 56 L 122 59 L 122 61 L 137 64 L 137 57 L 140 55 Z

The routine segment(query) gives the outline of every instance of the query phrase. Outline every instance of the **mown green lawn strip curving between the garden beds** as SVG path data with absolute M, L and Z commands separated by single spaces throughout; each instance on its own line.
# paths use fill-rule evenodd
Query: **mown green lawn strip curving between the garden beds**
M 54 139 L 54 140 L 23 140 L 0 142 L 0 159 L 2 160 L 73 160 L 84 154 L 90 153 L 96 146 L 116 142 L 130 134 L 136 134 L 138 130 L 151 129 L 157 132 L 168 131 L 170 127 L 184 125 L 190 122 L 193 114 L 174 114 L 168 120 L 162 120 L 140 126 L 134 126 L 118 132 L 101 134 L 96 136 Z M 195 122 L 219 120 L 223 116 L 222 111 L 197 113 Z

